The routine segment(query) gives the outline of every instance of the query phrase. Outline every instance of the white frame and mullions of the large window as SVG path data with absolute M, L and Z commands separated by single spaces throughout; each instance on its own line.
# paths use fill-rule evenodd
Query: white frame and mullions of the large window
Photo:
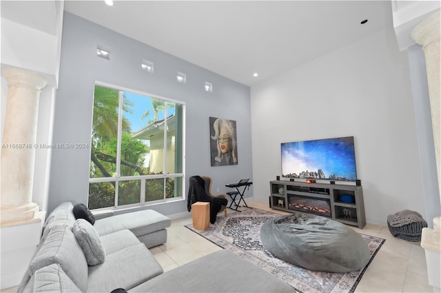
M 147 92 L 142 92 L 139 90 L 132 90 L 129 88 L 125 88 L 123 86 L 120 85 L 113 85 L 111 83 L 105 83 L 102 81 L 94 81 L 94 89 L 95 86 L 101 86 L 104 88 L 111 88 L 113 90 L 118 90 L 119 91 L 119 114 L 118 114 L 118 133 L 117 133 L 117 148 L 116 148 L 116 174 L 115 176 L 112 177 L 99 177 L 99 178 L 90 178 L 89 175 L 89 180 L 88 180 L 88 185 L 90 188 L 90 183 L 105 183 L 105 182 L 114 182 L 115 183 L 115 198 L 114 198 L 114 205 L 110 206 L 110 207 L 105 207 L 105 208 L 96 208 L 93 209 L 94 211 L 101 211 L 101 210 L 124 210 L 127 208 L 138 208 L 138 207 L 142 207 L 142 206 L 149 206 L 149 205 L 157 205 L 157 204 L 161 204 L 161 203 L 170 203 L 170 202 L 174 202 L 174 201 L 183 201 L 185 200 L 185 125 L 186 125 L 186 119 L 185 119 L 185 113 L 186 113 L 186 105 L 185 102 L 183 101 L 179 101 L 176 99 L 170 99 L 167 97 L 162 97 L 159 96 L 157 94 L 150 94 Z M 137 95 L 141 95 L 141 96 L 145 96 L 145 97 L 149 97 L 151 99 L 159 99 L 161 101 L 165 101 L 167 103 L 175 103 L 175 104 L 179 104 L 182 106 L 182 142 L 181 142 L 181 152 L 182 152 L 182 158 L 181 158 L 181 164 L 182 164 L 182 172 L 176 172 L 176 173 L 171 173 L 171 174 L 167 174 L 167 131 L 164 131 L 164 152 L 163 152 L 163 173 L 165 174 L 146 174 L 146 175 L 136 175 L 136 176 L 121 176 L 121 142 L 122 142 L 122 119 L 123 119 L 123 92 L 130 92 L 132 94 L 137 94 Z M 92 131 L 93 131 L 93 114 L 94 114 L 94 94 L 92 94 L 93 99 L 92 99 L 92 124 L 90 125 L 90 130 L 91 130 L 91 135 L 90 135 L 90 140 L 92 142 Z M 167 117 L 167 107 L 165 107 L 164 109 L 164 117 Z M 167 126 L 167 119 L 164 119 L 164 123 L 165 126 Z M 166 128 L 165 128 L 166 129 Z M 176 140 L 176 137 L 175 137 Z M 92 156 L 92 148 L 90 148 L 90 153 L 89 153 L 89 170 L 88 172 L 90 172 L 90 163 L 92 163 L 91 161 L 91 156 Z M 175 162 L 176 164 L 176 162 Z M 164 183 L 166 183 L 167 179 L 169 178 L 181 178 L 182 179 L 182 183 L 181 183 L 181 191 L 182 191 L 182 195 L 181 196 L 176 196 L 176 197 L 172 197 L 167 199 L 165 197 L 165 185 L 164 185 L 164 193 L 163 193 L 163 199 L 158 199 L 155 201 L 145 201 L 145 181 L 149 180 L 149 179 L 163 179 Z M 141 190 L 140 190 L 140 201 L 139 203 L 131 203 L 131 204 L 127 204 L 127 205 L 118 205 L 118 200 L 119 200 L 119 183 L 121 181 L 130 181 L 130 180 L 141 180 Z M 89 190 L 88 188 L 88 190 Z M 88 194 L 88 204 L 89 204 L 89 194 Z

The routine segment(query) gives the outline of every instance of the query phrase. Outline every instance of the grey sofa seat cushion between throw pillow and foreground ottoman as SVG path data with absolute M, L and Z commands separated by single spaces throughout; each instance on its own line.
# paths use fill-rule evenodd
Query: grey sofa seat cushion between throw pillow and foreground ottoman
M 163 268 L 143 243 L 107 254 L 101 265 L 89 267 L 89 292 L 129 290 L 158 276 Z

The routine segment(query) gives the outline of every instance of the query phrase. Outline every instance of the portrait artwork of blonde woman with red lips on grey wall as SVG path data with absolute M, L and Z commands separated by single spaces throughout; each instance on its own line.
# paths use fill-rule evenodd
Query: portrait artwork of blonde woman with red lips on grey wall
M 237 165 L 236 121 L 209 117 L 212 166 Z

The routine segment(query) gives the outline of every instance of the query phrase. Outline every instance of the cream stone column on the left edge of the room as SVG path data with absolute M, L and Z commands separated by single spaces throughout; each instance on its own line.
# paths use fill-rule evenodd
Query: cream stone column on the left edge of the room
M 37 118 L 41 89 L 47 81 L 34 72 L 3 68 L 8 101 L 1 145 L 1 226 L 34 219 L 32 203 Z

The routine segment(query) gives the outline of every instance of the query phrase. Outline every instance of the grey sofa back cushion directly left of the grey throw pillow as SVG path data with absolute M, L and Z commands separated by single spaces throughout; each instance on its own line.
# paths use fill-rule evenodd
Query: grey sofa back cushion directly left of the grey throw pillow
M 57 263 L 78 286 L 85 292 L 88 288 L 88 263 L 83 250 L 67 226 L 57 226 L 50 230 L 43 247 L 30 263 L 30 274 L 41 267 Z

